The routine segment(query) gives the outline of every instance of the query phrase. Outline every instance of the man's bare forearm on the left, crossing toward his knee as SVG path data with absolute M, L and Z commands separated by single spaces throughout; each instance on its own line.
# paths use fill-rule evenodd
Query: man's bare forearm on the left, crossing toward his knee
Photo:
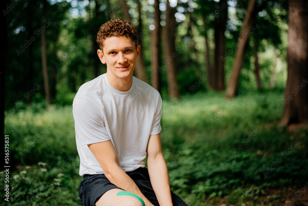
M 138 195 L 146 206 L 153 206 L 151 202 L 142 194 L 136 183 L 130 178 L 120 165 L 115 165 L 110 169 L 112 172 L 105 172 L 107 179 L 117 187 L 124 189 L 127 192 L 132 192 Z

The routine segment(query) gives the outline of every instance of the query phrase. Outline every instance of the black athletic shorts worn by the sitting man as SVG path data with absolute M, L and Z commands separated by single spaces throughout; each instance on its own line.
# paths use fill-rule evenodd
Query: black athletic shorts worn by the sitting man
M 158 200 L 152 188 L 148 169 L 140 167 L 134 171 L 126 172 L 136 183 L 144 196 L 155 206 L 159 206 Z M 84 206 L 95 206 L 95 202 L 108 190 L 119 188 L 112 184 L 104 174 L 83 175 L 79 186 L 79 197 Z M 173 206 L 187 206 L 183 200 L 171 192 Z

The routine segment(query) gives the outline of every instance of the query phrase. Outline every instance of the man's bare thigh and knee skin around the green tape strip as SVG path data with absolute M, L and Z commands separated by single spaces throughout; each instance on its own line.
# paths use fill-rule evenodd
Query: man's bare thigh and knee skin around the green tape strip
M 141 202 L 132 196 L 122 195 L 117 196 L 122 189 L 111 189 L 105 192 L 99 200 L 96 201 L 96 206 L 142 206 Z

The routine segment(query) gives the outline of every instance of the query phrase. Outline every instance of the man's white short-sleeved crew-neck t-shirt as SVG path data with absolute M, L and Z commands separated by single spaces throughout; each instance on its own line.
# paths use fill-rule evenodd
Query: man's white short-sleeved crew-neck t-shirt
M 149 135 L 161 131 L 160 93 L 133 77 L 128 91 L 114 89 L 107 73 L 83 84 L 73 101 L 79 175 L 104 171 L 87 144 L 111 140 L 124 171 L 145 167 Z

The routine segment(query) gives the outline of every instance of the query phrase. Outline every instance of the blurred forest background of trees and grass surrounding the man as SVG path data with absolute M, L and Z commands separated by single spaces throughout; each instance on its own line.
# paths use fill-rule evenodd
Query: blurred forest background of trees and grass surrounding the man
M 308 205 L 306 0 L 1 5 L 3 205 L 82 205 L 72 101 L 106 73 L 96 34 L 115 18 L 137 28 L 134 75 L 163 98 L 172 191 L 196 206 Z

